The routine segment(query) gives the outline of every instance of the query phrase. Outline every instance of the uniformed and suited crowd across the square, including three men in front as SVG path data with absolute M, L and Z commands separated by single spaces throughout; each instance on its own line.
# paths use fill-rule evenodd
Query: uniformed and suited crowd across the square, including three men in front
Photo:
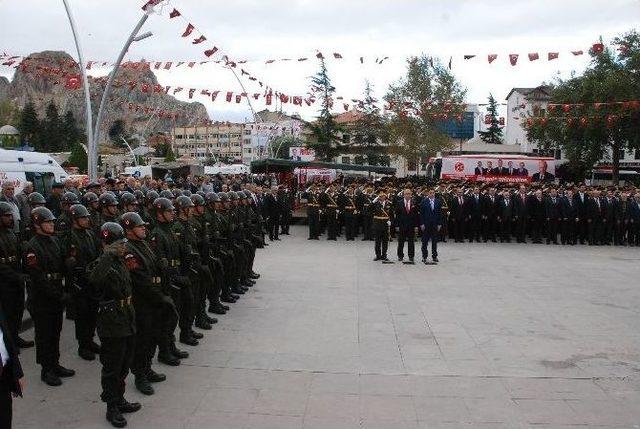
M 309 240 L 362 235 L 375 241 L 375 260 L 388 262 L 388 241 L 397 237 L 399 260 L 422 236 L 426 262 L 431 242 L 511 242 L 640 246 L 640 190 L 585 184 L 478 184 L 410 180 L 312 184 L 307 202 Z M 428 203 L 428 204 L 427 204 Z

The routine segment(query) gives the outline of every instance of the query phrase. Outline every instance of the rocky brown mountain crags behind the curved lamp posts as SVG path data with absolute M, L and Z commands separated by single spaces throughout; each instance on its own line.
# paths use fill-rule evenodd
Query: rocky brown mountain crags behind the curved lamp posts
M 78 125 L 83 127 L 84 91 L 81 87 L 70 88 L 73 87 L 73 81 L 70 81 L 73 76 L 80 76 L 80 69 L 66 52 L 33 53 L 16 69 L 11 81 L 0 77 L 0 101 L 11 100 L 19 108 L 32 101 L 41 117 L 44 116 L 47 104 L 53 101 L 61 115 L 71 110 L 78 120 Z M 106 76 L 89 78 L 94 121 L 106 80 Z M 157 90 L 164 87 L 158 85 L 157 77 L 149 68 L 121 67 L 116 75 L 116 82 L 118 85 L 112 89 L 105 108 L 101 132 L 104 140 L 108 139 L 108 130 L 116 119 L 123 119 L 131 131 L 146 135 L 169 131 L 173 126 L 185 126 L 209 120 L 203 104 L 179 101 L 165 94 L 164 90 L 154 92 L 154 86 Z M 133 90 L 129 85 L 131 82 L 137 82 Z M 140 88 L 143 84 L 147 84 L 150 91 L 142 92 Z M 135 107 L 138 107 L 137 111 Z M 160 111 L 163 117 L 157 114 Z M 178 114 L 179 117 L 168 118 L 170 113 Z

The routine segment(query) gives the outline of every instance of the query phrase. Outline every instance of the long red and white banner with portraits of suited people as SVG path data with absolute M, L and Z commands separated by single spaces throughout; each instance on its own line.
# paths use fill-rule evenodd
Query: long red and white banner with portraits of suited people
M 441 179 L 477 182 L 554 182 L 556 160 L 523 155 L 461 155 L 442 158 Z

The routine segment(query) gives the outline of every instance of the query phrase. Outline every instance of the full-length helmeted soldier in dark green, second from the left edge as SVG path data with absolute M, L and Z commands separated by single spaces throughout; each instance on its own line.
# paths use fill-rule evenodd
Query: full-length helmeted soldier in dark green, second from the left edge
M 31 303 L 36 334 L 36 362 L 40 377 L 49 386 L 60 386 L 60 377 L 72 377 L 75 371 L 60 365 L 62 313 L 68 295 L 63 289 L 62 248 L 55 237 L 53 213 L 46 207 L 31 212 L 34 237 L 25 248 L 25 264 L 31 279 Z

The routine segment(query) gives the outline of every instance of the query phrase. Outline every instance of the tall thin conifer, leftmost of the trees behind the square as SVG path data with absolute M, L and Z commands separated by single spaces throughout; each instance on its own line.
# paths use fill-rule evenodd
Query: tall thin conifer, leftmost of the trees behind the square
M 331 114 L 332 96 L 335 90 L 335 87 L 331 85 L 324 58 L 320 58 L 320 70 L 311 78 L 310 92 L 320 98 L 321 108 L 315 123 L 309 124 L 311 136 L 307 146 L 313 149 L 316 156 L 323 161 L 331 161 L 343 149 L 340 139 L 337 137 L 340 127 Z

